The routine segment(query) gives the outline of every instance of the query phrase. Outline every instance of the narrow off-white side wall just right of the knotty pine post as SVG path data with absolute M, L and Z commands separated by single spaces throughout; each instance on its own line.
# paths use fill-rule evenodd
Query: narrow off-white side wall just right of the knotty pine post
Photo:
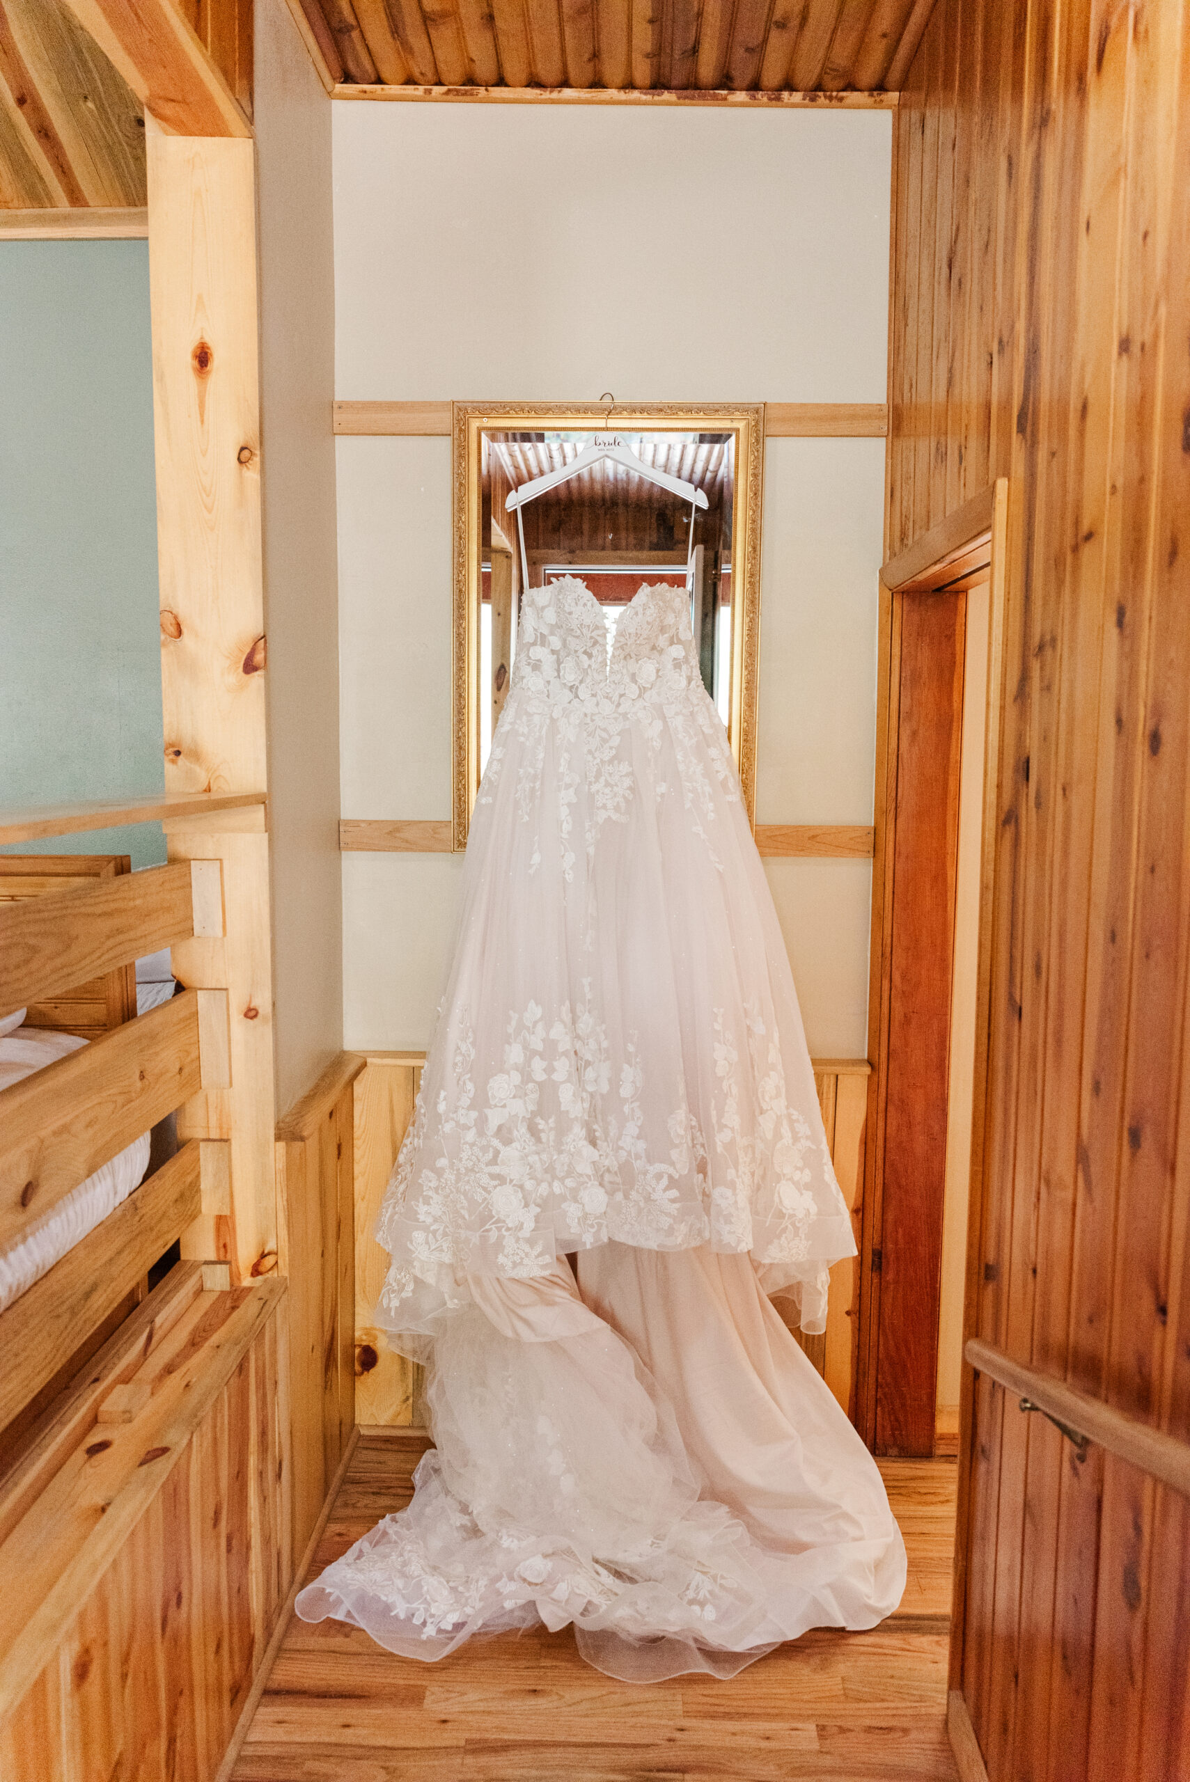
M 278 1112 L 342 1050 L 331 102 L 257 0 L 260 410 Z

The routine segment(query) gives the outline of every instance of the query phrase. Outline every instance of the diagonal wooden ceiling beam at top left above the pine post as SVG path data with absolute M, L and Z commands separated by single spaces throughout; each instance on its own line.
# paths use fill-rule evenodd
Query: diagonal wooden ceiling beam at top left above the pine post
M 173 0 L 64 0 L 171 135 L 249 137 L 251 123 Z

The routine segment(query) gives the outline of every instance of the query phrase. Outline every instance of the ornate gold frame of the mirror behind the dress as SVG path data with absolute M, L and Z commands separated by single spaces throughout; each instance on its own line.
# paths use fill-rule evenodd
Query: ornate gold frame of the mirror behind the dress
M 584 431 L 607 424 L 606 403 L 452 403 L 451 486 L 454 531 L 452 846 L 467 846 L 479 789 L 479 602 L 483 431 Z M 757 656 L 761 627 L 761 504 L 764 403 L 616 403 L 615 426 L 636 433 L 732 433 L 730 716 L 727 734 L 755 822 Z

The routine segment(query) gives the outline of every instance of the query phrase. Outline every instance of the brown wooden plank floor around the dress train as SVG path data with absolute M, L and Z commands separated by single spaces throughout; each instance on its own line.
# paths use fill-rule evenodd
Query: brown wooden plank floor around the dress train
M 408 1500 L 422 1445 L 360 1436 L 314 1572 Z M 944 1730 L 955 1470 L 882 1463 L 909 1549 L 889 1622 L 805 1634 L 730 1682 L 620 1684 L 579 1659 L 570 1631 L 499 1636 L 420 1664 L 338 1622 L 294 1620 L 233 1782 L 955 1782 Z

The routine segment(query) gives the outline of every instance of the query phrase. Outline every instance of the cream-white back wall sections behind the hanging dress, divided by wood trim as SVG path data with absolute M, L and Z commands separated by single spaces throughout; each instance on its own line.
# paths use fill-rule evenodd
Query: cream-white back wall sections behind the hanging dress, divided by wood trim
M 885 397 L 880 112 L 347 105 L 337 394 Z M 344 816 L 444 818 L 449 442 L 338 440 Z M 766 451 L 761 822 L 871 822 L 878 440 Z M 349 1046 L 420 1046 L 456 859 L 344 855 Z M 818 1055 L 866 1050 L 862 861 L 771 861 Z

